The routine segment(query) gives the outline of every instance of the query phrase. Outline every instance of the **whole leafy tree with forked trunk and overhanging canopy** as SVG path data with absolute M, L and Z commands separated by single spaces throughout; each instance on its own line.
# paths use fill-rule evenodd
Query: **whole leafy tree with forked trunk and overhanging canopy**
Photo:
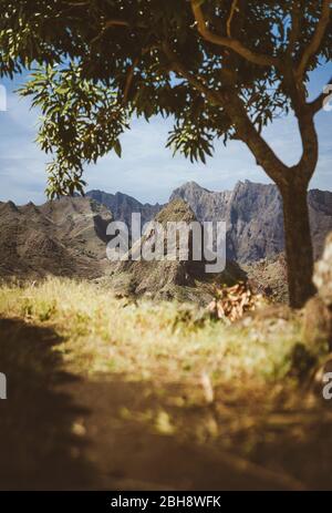
M 290 301 L 313 294 L 307 191 L 317 167 L 311 71 L 332 54 L 330 0 L 1 0 L 0 72 L 38 66 L 21 93 L 42 110 L 53 154 L 49 194 L 82 191 L 83 166 L 131 117 L 174 117 L 168 145 L 205 162 L 214 141 L 242 141 L 283 199 Z M 332 82 L 332 81 L 331 81 Z M 293 111 L 303 152 L 287 166 L 263 126 Z

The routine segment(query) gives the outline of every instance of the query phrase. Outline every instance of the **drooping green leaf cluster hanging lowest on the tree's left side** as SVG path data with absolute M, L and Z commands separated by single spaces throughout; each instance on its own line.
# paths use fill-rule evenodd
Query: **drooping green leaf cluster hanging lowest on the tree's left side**
M 38 142 L 46 153 L 55 153 L 48 165 L 51 198 L 61 191 L 83 193 L 84 163 L 95 163 L 111 150 L 121 156 L 126 112 L 108 88 L 82 78 L 80 66 L 35 71 L 21 94 L 33 94 L 32 105 L 42 112 Z

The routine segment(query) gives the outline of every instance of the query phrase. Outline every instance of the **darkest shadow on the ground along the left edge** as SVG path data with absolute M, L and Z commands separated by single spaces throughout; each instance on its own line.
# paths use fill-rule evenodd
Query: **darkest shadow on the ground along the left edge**
M 0 370 L 8 399 L 0 401 L 0 489 L 84 489 L 93 481 L 73 432 L 87 411 L 59 386 L 77 378 L 62 370 L 58 335 L 21 320 L 0 319 Z

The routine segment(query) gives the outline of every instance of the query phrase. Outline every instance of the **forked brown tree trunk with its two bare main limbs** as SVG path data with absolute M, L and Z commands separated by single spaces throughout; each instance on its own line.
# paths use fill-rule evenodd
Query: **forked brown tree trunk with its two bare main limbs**
M 294 78 L 291 78 L 291 82 Z M 291 88 L 293 84 L 291 83 Z M 305 98 L 293 88 L 293 107 L 299 120 L 303 154 L 298 165 L 287 166 L 256 130 L 248 109 L 235 88 L 219 92 L 220 105 L 236 127 L 236 135 L 249 147 L 267 175 L 279 186 L 283 199 L 284 242 L 290 305 L 302 308 L 314 295 L 312 283 L 313 250 L 309 223 L 307 188 L 314 173 L 319 145 L 313 112 Z

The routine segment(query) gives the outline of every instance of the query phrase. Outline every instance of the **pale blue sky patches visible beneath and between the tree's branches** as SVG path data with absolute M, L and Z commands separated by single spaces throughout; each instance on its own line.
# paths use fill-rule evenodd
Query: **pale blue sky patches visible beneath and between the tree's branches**
M 312 74 L 310 93 L 314 98 L 332 76 L 332 63 Z M 30 111 L 28 100 L 18 98 L 13 90 L 22 79 L 2 81 L 7 88 L 8 110 L 0 112 L 0 201 L 18 204 L 45 201 L 45 163 L 48 157 L 34 143 L 38 113 Z M 95 166 L 86 168 L 89 188 L 110 193 L 121 191 L 142 202 L 164 203 L 172 191 L 185 182 L 195 181 L 201 186 L 222 191 L 232 188 L 239 179 L 268 183 L 263 171 L 240 142 L 227 147 L 216 144 L 216 152 L 207 165 L 191 164 L 185 157 L 172 156 L 165 148 L 170 121 L 155 119 L 149 123 L 134 121 L 132 130 L 122 138 L 123 157 L 110 154 Z M 320 137 L 320 162 L 311 187 L 332 189 L 332 112 L 317 116 Z M 276 120 L 264 132 L 278 155 L 288 164 L 295 163 L 301 143 L 295 121 L 290 115 Z

